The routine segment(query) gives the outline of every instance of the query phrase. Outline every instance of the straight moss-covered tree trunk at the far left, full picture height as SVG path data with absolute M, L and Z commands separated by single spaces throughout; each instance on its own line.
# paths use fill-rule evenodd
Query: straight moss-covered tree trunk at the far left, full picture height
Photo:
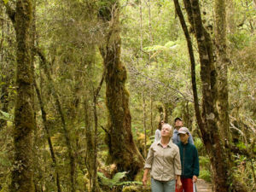
M 15 14 L 17 67 L 14 149 L 11 192 L 32 192 L 33 79 L 31 59 L 32 1 L 17 0 Z

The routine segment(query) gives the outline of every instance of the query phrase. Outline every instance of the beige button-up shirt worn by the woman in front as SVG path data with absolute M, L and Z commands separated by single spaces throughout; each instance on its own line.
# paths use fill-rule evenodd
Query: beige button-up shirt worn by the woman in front
M 154 142 L 148 151 L 144 169 L 151 169 L 150 175 L 155 180 L 170 181 L 176 175 L 181 175 L 179 149 L 176 144 L 170 143 L 163 148 L 160 141 Z

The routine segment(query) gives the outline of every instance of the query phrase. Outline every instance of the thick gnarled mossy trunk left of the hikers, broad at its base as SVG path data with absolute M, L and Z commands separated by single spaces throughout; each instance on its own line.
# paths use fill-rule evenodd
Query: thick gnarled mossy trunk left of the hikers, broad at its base
M 132 179 L 143 167 L 143 157 L 138 152 L 131 134 L 129 92 L 125 88 L 127 73 L 120 61 L 119 2 L 102 0 L 99 15 L 104 23 L 105 42 L 102 57 L 106 67 L 106 104 L 108 108 L 108 162 L 115 163 L 118 171 L 129 171 Z

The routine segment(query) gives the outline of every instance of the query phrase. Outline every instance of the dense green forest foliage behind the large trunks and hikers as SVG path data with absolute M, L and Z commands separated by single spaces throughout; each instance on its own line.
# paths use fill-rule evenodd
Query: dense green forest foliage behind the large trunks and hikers
M 119 190 L 125 172 L 108 165 L 108 109 L 102 47 L 106 44 L 110 21 L 99 18 L 111 13 L 108 3 L 96 0 L 37 0 L 34 24 L 33 73 L 42 103 L 34 91 L 35 129 L 32 132 L 32 169 L 35 191 L 90 191 L 93 166 L 98 167 L 98 189 Z M 214 3 L 201 0 L 203 23 L 214 38 Z M 174 4 L 169 0 L 120 0 L 119 28 L 121 61 L 127 69 L 131 131 L 137 148 L 145 148 L 160 119 L 172 125 L 177 116 L 195 137 L 201 160 L 201 177 L 211 181 L 210 162 L 201 142 L 195 119 L 189 53 Z M 181 3 L 181 6 L 183 4 Z M 15 0 L 0 3 L 0 191 L 9 191 L 14 160 L 15 96 Z M 256 2 L 227 1 L 227 49 L 229 57 L 229 115 L 232 142 L 236 147 L 234 173 L 241 182 L 256 189 Z M 185 15 L 185 12 L 184 12 Z M 110 23 L 110 24 L 109 24 Z M 191 30 L 192 31 L 192 30 Z M 191 32 L 192 34 L 192 32 Z M 193 37 L 191 35 L 191 37 Z M 196 40 L 195 73 L 201 102 L 200 62 Z M 213 43 L 214 44 L 214 43 Z M 214 44 L 215 46 L 216 44 Z M 104 77 L 104 76 L 103 76 Z M 96 89 L 100 88 L 95 99 Z M 59 104 L 60 105 L 59 105 Z M 97 125 L 95 125 L 96 105 Z M 44 114 L 46 113 L 46 121 Z M 46 128 L 45 128 L 46 127 Z M 95 129 L 97 130 L 95 131 Z M 97 138 L 96 145 L 93 138 Z M 52 143 L 52 150 L 49 147 Z M 68 143 L 69 141 L 69 143 Z M 92 155 L 97 152 L 96 160 Z M 71 161 L 73 161 L 73 166 Z M 94 164 L 96 162 L 96 164 Z M 72 173 L 72 169 L 73 173 Z M 71 169 L 71 170 L 70 170 Z M 121 173 L 123 172 L 123 174 Z M 123 179 L 123 180 L 122 180 Z M 141 175 L 138 173 L 138 181 Z M 110 183 L 110 186 L 106 183 Z M 231 185 L 232 183 L 230 183 Z

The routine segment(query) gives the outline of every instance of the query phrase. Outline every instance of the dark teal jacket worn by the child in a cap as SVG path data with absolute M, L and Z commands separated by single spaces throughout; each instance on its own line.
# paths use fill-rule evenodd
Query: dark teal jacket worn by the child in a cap
M 191 143 L 177 143 L 182 164 L 182 178 L 192 178 L 199 176 L 199 159 L 195 145 Z

